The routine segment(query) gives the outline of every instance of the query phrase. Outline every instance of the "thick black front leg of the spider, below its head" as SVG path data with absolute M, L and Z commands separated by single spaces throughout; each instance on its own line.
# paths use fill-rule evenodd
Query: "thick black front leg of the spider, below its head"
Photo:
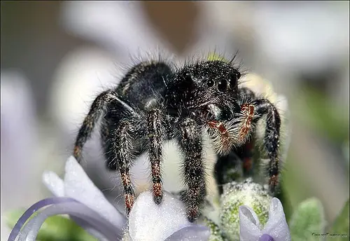
M 200 216 L 200 207 L 207 194 L 204 163 L 202 160 L 202 133 L 193 119 L 187 118 L 179 124 L 179 146 L 184 153 L 183 169 L 187 186 L 183 200 L 186 202 L 190 222 Z

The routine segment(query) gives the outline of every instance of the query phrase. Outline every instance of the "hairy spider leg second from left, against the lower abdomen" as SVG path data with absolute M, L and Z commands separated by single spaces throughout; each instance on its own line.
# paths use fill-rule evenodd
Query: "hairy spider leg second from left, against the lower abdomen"
M 135 200 L 130 178 L 132 161 L 140 154 L 137 138 L 143 135 L 143 122 L 137 110 L 116 98 L 102 118 L 101 137 L 109 170 L 118 170 L 125 195 L 126 214 L 129 215 Z

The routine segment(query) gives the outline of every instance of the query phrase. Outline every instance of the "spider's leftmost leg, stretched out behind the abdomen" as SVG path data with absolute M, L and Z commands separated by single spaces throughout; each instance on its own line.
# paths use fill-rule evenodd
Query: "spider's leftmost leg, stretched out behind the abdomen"
M 106 106 L 115 99 L 111 90 L 102 92 L 99 96 L 94 99 L 90 107 L 89 113 L 85 117 L 83 124 L 81 125 L 78 136 L 76 137 L 76 142 L 73 149 L 73 156 L 78 160 L 78 163 L 81 161 L 81 153 L 85 142 L 91 137 L 91 133 L 94 130 L 99 117 L 102 116 L 102 113 L 106 111 Z

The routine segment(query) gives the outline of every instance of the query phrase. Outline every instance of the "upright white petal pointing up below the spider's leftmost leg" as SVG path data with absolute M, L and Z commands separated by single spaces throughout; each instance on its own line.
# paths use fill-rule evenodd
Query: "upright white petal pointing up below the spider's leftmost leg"
M 67 160 L 65 171 L 64 193 L 66 197 L 82 202 L 117 227 L 125 226 L 125 216 L 106 200 L 104 194 L 87 177 L 83 167 L 73 156 Z

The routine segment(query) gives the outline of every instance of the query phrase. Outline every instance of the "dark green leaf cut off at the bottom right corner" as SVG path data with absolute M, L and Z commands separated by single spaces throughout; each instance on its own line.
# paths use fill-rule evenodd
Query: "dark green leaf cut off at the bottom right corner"
M 349 200 L 345 203 L 342 212 L 337 216 L 328 233 L 349 237 Z M 334 237 L 332 240 L 344 240 L 344 237 Z

